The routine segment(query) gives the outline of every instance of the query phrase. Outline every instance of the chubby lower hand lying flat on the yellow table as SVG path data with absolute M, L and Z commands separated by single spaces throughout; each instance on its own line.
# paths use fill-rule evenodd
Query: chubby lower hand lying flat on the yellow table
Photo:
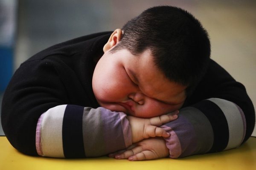
M 129 161 L 143 161 L 157 158 L 165 158 L 169 155 L 166 141 L 161 137 L 148 138 L 133 144 L 126 150 L 109 154 L 116 159 L 129 159 Z

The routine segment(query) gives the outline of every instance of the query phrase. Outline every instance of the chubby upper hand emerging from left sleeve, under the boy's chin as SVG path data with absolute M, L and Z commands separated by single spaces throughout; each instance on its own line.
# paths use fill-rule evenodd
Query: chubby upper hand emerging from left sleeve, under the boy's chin
M 161 115 L 154 118 L 137 118 L 134 116 L 128 116 L 127 118 L 131 127 L 132 143 L 155 136 L 162 136 L 164 138 L 169 137 L 170 134 L 159 126 L 177 119 L 178 113 L 179 111 L 177 110 L 170 114 Z

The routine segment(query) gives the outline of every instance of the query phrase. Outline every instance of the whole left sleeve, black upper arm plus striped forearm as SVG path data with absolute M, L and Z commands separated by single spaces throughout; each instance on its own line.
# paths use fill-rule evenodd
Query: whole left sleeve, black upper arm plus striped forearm
M 6 89 L 1 120 L 12 146 L 33 156 L 82 158 L 131 145 L 126 115 L 95 104 L 91 79 L 82 84 L 54 59 L 23 63 Z

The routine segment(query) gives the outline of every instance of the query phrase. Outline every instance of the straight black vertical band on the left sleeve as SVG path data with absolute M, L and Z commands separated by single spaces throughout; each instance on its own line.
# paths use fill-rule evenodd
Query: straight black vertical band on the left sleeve
M 65 158 L 83 158 L 84 141 L 82 132 L 84 107 L 67 105 L 62 126 L 62 141 Z

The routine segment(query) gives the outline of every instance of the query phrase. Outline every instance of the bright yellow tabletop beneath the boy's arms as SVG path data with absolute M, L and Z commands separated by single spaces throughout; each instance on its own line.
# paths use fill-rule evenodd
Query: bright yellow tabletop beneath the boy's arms
M 113 158 L 43 158 L 26 156 L 0 136 L 0 170 L 256 170 L 256 138 L 251 137 L 238 149 L 220 153 L 162 158 L 151 161 Z

